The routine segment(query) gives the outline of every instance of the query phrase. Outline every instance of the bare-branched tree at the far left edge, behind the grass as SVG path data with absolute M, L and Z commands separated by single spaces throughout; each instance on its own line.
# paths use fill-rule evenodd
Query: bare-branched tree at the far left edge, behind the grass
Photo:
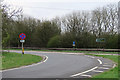
M 2 43 L 10 46 L 10 35 L 14 30 L 14 20 L 21 14 L 22 9 L 13 9 L 10 5 L 1 4 L 2 11 Z

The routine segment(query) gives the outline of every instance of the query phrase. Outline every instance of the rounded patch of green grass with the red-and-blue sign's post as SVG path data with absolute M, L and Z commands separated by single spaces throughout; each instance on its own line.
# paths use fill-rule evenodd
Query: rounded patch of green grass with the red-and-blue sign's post
M 24 65 L 30 65 L 33 63 L 40 62 L 41 56 L 31 54 L 18 54 L 13 52 L 3 52 L 2 54 L 2 69 L 16 68 Z

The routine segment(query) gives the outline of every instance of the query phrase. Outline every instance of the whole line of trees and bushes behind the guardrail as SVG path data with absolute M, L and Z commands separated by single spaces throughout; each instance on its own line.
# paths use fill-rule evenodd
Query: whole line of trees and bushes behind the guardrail
M 22 9 L 1 5 L 2 45 L 20 47 L 19 34 L 25 33 L 24 46 L 40 48 L 118 48 L 118 8 L 107 5 L 91 11 L 76 11 L 51 20 L 24 16 Z M 105 42 L 96 42 L 105 38 Z

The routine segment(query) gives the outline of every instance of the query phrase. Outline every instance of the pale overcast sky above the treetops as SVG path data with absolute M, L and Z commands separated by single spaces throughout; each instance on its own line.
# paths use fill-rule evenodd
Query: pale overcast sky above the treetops
M 119 0 L 4 0 L 2 3 L 22 8 L 23 14 L 37 19 L 62 17 L 74 11 L 91 11 Z

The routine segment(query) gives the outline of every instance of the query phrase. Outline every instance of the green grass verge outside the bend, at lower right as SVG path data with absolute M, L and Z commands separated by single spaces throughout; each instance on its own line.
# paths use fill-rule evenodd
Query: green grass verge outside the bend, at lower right
M 117 55 L 94 55 L 94 54 L 87 54 L 87 55 L 108 58 L 108 59 L 113 60 L 114 62 L 118 63 Z M 117 66 L 114 69 L 97 74 L 97 75 L 93 76 L 93 78 L 118 78 L 118 70 L 120 71 L 120 68 L 118 69 L 118 64 L 117 64 Z

